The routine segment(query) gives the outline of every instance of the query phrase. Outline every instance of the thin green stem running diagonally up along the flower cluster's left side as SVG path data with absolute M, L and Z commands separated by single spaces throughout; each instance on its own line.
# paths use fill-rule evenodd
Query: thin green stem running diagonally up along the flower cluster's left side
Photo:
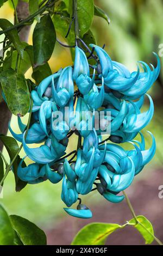
M 28 123 L 27 123 L 27 130 L 26 130 L 26 133 L 25 133 L 25 139 L 27 137 L 27 134 L 28 134 L 28 130 L 29 130 L 29 125 L 30 125 L 30 119 L 32 117 L 32 107 L 33 107 L 33 101 L 31 100 L 31 104 L 30 104 L 30 111 L 29 111 L 29 118 L 28 118 Z M 0 186 L 3 184 L 5 178 L 7 178 L 7 175 L 9 174 L 10 172 L 10 169 L 11 169 L 11 166 L 12 164 L 15 162 L 16 160 L 16 157 L 18 156 L 18 154 L 20 153 L 21 149 L 23 147 L 23 143 L 21 144 L 20 148 L 17 150 L 17 153 L 15 154 L 14 158 L 12 159 L 12 161 L 10 162 L 10 164 L 8 165 L 7 169 L 6 169 L 6 172 L 0 182 Z

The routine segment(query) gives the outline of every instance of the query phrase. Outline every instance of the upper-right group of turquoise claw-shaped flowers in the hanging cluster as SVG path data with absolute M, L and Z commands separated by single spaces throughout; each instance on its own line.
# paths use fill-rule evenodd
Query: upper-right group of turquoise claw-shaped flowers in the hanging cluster
M 119 92 L 123 99 L 135 100 L 141 97 L 151 88 L 158 78 L 160 73 L 160 59 L 156 53 L 154 53 L 158 61 L 156 68 L 151 64 L 151 70 L 145 62 L 139 62 L 143 68 L 143 72 L 140 72 L 138 66 L 137 72 L 130 74 L 124 65 L 118 62 L 112 62 L 108 53 L 101 47 L 93 44 L 90 46 L 95 48 L 99 58 L 99 64 L 97 65 L 99 78 L 103 77 L 105 86 Z

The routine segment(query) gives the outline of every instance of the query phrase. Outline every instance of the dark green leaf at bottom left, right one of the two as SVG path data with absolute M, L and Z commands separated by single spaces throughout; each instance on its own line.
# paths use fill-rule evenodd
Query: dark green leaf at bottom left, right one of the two
M 23 245 L 46 245 L 45 233 L 34 223 L 17 215 L 11 215 L 10 219 Z

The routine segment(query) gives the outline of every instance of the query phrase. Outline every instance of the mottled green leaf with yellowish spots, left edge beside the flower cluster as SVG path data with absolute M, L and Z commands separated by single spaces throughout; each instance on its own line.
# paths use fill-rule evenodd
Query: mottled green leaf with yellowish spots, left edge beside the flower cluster
M 30 107 L 30 96 L 24 76 L 14 70 L 4 70 L 0 81 L 10 111 L 15 115 L 25 115 Z

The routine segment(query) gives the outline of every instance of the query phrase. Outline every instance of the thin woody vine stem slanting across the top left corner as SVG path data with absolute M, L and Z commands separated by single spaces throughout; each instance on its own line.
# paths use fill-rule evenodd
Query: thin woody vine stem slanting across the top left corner
M 28 16 L 26 19 L 24 19 L 24 20 L 21 21 L 20 23 L 15 24 L 14 26 L 9 27 L 9 28 L 7 28 L 7 29 L 1 31 L 1 32 L 0 32 L 0 35 L 5 34 L 5 33 L 9 32 L 9 31 L 11 31 L 12 29 L 21 27 L 21 26 L 24 25 L 24 23 L 27 23 L 28 21 L 33 20 L 35 16 L 37 16 L 38 14 L 43 13 L 43 11 L 45 11 L 47 8 L 52 7 L 56 1 L 57 1 L 57 0 L 53 1 L 52 3 L 49 3 L 49 1 L 48 1 L 41 9 L 37 10 L 34 14 Z

